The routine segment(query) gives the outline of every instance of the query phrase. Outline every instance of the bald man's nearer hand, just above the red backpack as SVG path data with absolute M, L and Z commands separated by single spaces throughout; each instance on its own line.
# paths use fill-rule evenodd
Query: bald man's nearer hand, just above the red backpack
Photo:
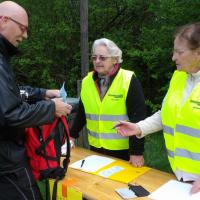
M 72 106 L 64 103 L 61 98 L 55 98 L 52 99 L 55 103 L 55 116 L 56 117 L 61 117 L 61 116 L 66 116 L 67 114 L 70 114 L 72 110 Z

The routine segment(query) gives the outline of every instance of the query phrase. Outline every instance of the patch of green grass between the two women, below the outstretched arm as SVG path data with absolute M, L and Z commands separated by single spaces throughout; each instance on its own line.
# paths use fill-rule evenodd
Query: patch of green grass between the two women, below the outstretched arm
M 154 133 L 145 137 L 145 165 L 172 173 L 162 132 Z

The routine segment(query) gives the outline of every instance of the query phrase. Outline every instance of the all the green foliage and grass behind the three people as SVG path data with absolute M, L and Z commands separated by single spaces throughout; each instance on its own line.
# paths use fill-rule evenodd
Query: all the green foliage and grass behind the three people
M 77 97 L 80 1 L 15 2 L 29 14 L 29 38 L 12 60 L 18 83 L 60 88 L 65 81 L 68 96 Z M 174 32 L 180 25 L 200 21 L 199 8 L 200 0 L 88 0 L 89 50 L 102 37 L 122 49 L 121 66 L 134 70 L 141 81 L 148 116 L 161 107 L 175 70 Z M 92 70 L 91 62 L 89 67 Z M 145 160 L 148 166 L 170 172 L 161 133 L 146 137 Z

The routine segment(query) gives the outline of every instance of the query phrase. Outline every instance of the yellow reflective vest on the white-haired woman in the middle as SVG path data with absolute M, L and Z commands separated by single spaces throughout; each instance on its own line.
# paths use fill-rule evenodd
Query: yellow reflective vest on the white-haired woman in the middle
M 90 72 L 83 79 L 81 100 L 86 113 L 88 140 L 91 146 L 109 150 L 129 148 L 128 137 L 117 134 L 113 126 L 119 120 L 128 120 L 126 97 L 133 72 L 120 69 L 103 100 Z

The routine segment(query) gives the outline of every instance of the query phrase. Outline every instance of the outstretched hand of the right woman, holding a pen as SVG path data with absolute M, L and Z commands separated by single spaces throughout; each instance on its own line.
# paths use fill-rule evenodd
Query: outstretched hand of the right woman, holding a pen
M 139 136 L 142 133 L 140 127 L 137 124 L 125 121 L 119 121 L 119 123 L 115 125 L 115 129 L 117 130 L 117 133 L 122 136 Z

